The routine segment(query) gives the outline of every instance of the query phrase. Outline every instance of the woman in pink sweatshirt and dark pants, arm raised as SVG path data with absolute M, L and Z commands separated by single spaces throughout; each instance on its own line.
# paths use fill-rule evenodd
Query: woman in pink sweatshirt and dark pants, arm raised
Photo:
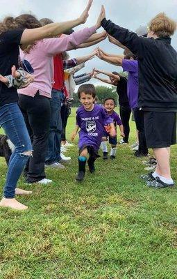
M 21 17 L 22 28 L 41 27 L 40 22 L 32 15 L 22 15 Z M 18 90 L 19 107 L 33 143 L 33 156 L 29 158 L 24 172 L 27 183 L 47 184 L 52 182 L 50 179 L 46 179 L 44 162 L 49 136 L 49 99 L 53 85 L 53 56 L 85 42 L 98 28 L 97 23 L 93 27 L 71 33 L 66 37 L 39 40 L 33 45 L 26 46 L 26 49 L 21 52 L 21 59 L 26 59 L 31 63 L 35 76 L 33 84 L 26 89 Z

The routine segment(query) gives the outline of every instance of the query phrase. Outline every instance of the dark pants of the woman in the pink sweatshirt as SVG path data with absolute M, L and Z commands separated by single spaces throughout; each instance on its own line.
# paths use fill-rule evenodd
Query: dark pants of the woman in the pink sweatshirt
M 26 163 L 24 174 L 27 181 L 33 183 L 46 177 L 44 163 L 50 128 L 50 99 L 41 96 L 39 92 L 34 98 L 19 94 L 19 107 L 33 144 L 33 156 Z

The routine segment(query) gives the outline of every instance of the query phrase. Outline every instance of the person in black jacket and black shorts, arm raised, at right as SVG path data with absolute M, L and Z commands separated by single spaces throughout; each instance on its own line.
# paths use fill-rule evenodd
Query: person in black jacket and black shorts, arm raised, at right
M 155 172 L 142 178 L 150 187 L 174 186 L 169 159 L 170 146 L 176 144 L 177 53 L 170 37 L 176 31 L 176 22 L 165 13 L 156 15 L 149 23 L 148 38 L 106 20 L 106 15 L 101 26 L 138 56 L 138 107 L 144 111 L 147 146 L 157 159 Z

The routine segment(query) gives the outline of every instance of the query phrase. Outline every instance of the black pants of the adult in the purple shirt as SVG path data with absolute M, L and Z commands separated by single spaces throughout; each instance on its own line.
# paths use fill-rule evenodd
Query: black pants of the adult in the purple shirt
M 143 154 L 148 154 L 148 148 L 146 146 L 146 137 L 144 131 L 144 112 L 139 110 L 137 107 L 133 109 L 133 114 L 135 117 L 135 123 L 138 130 L 138 140 L 139 140 L 139 149 L 138 151 Z

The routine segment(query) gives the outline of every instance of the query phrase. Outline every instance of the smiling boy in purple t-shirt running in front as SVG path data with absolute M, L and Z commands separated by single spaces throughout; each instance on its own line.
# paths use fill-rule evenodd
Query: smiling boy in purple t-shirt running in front
M 94 103 L 96 90 L 93 84 L 83 84 L 78 88 L 78 98 L 81 107 L 76 112 L 76 127 L 71 135 L 74 140 L 79 131 L 79 156 L 78 174 L 76 181 L 83 181 L 85 176 L 85 165 L 88 163 L 90 172 L 95 171 L 94 161 L 99 157 L 98 150 L 103 136 L 104 126 L 110 126 L 110 136 L 115 137 L 115 126 L 113 119 L 104 107 Z M 87 160 L 87 155 L 89 159 Z

